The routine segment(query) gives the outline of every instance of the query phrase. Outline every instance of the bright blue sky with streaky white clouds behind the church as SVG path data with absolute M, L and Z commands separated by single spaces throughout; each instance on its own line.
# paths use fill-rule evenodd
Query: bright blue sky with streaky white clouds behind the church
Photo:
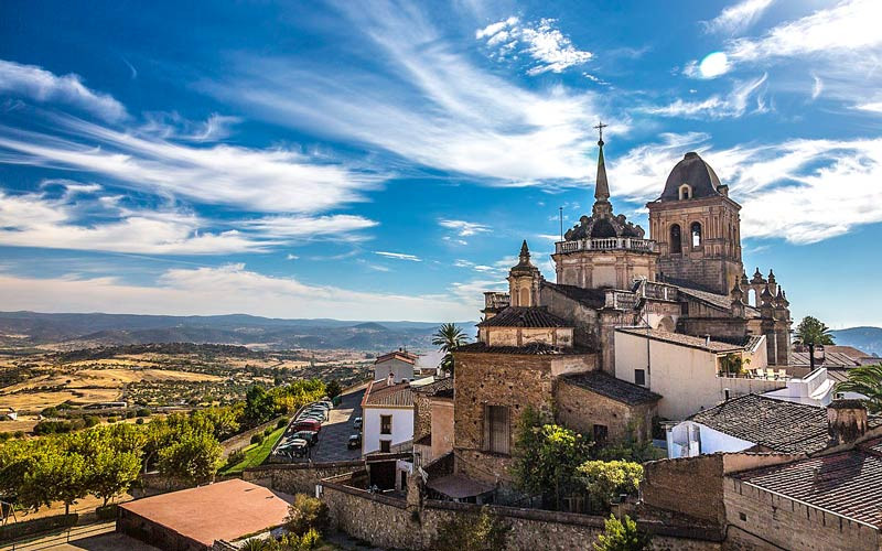
M 0 311 L 463 321 L 688 151 L 882 326 L 882 2 L 0 3 Z

